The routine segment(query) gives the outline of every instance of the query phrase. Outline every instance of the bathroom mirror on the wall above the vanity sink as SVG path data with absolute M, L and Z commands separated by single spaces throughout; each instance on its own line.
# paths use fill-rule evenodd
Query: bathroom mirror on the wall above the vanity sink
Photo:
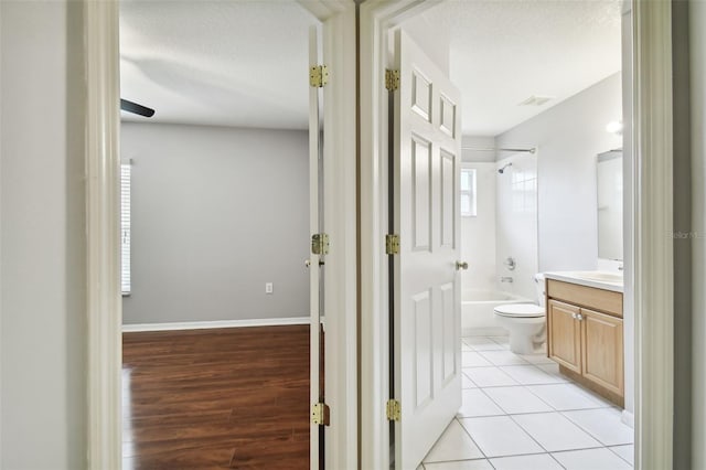
M 598 154 L 598 257 L 622 260 L 622 150 Z

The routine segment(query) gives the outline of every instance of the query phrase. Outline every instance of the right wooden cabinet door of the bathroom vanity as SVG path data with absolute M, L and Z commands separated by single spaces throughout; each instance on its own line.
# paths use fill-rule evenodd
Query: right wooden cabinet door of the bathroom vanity
M 581 309 L 584 377 L 622 396 L 622 319 Z

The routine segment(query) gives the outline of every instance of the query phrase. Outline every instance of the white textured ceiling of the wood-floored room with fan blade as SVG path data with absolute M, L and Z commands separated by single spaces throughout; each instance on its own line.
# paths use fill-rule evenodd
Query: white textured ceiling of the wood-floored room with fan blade
M 150 121 L 306 129 L 311 24 L 293 0 L 121 1 L 120 95 Z

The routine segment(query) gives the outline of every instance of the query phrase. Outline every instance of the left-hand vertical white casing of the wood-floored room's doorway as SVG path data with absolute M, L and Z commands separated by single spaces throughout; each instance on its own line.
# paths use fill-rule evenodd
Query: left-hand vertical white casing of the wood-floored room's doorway
M 84 1 L 86 52 L 87 468 L 122 458 L 118 2 Z

